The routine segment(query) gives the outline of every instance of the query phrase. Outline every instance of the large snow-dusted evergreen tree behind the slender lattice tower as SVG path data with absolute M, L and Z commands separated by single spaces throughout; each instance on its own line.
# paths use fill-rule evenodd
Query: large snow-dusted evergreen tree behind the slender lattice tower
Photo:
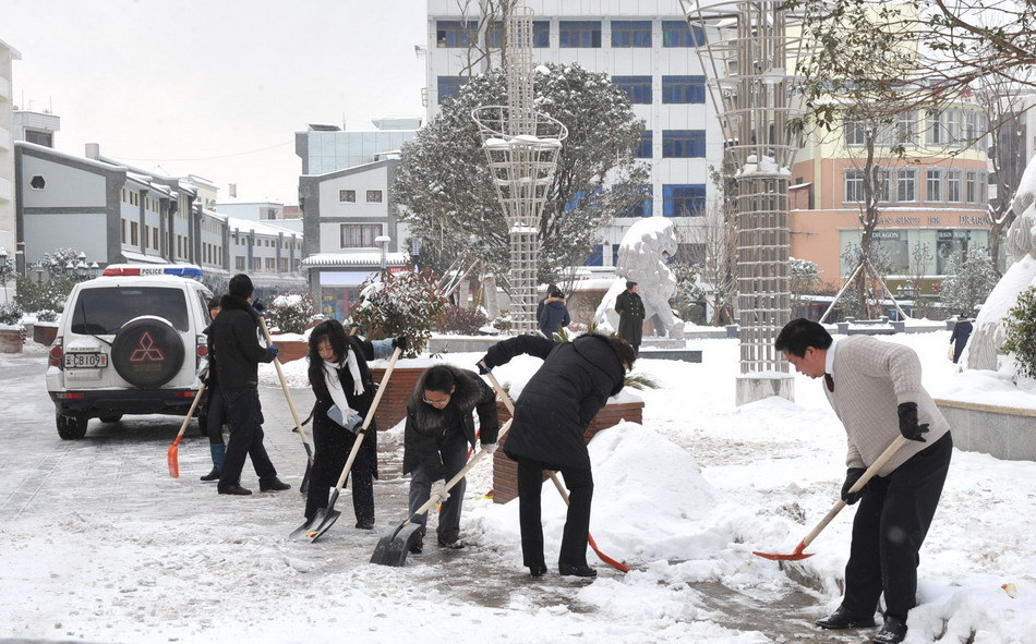
M 537 109 L 568 129 L 540 219 L 539 277 L 556 281 L 600 243 L 603 226 L 645 201 L 648 168 L 633 157 L 645 123 L 606 74 L 578 64 L 539 65 L 533 90 Z M 471 118 L 494 105 L 507 105 L 501 69 L 472 77 L 401 150 L 397 208 L 422 240 L 427 266 L 442 270 L 466 252 L 496 270 L 509 263 L 507 226 Z

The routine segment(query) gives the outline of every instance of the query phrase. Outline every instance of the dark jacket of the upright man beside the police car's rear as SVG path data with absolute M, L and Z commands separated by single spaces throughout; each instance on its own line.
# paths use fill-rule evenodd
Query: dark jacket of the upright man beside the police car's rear
M 258 342 L 258 316 L 248 300 L 224 295 L 222 309 L 212 324 L 208 350 L 224 389 L 255 387 L 258 363 L 274 362 L 274 354 Z

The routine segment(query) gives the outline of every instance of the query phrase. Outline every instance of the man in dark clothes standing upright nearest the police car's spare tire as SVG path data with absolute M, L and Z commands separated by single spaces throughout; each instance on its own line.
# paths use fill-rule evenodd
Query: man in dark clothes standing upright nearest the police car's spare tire
M 291 486 L 277 478 L 277 469 L 263 446 L 263 406 L 258 398 L 258 364 L 274 362 L 277 347 L 258 341 L 258 314 L 252 308 L 252 280 L 244 274 L 230 279 L 219 316 L 212 325 L 209 353 L 216 364 L 219 388 L 230 423 L 230 440 L 217 490 L 221 495 L 250 495 L 241 487 L 244 459 L 260 479 L 260 491 L 279 491 Z

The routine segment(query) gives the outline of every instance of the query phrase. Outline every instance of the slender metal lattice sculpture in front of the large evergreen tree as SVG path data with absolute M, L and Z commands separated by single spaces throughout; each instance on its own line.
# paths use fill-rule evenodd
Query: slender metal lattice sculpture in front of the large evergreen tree
M 532 11 L 515 8 L 504 24 L 508 105 L 478 108 L 471 118 L 479 124 L 496 195 L 507 218 L 514 328 L 526 332 L 537 329 L 540 217 L 568 130 L 534 109 Z

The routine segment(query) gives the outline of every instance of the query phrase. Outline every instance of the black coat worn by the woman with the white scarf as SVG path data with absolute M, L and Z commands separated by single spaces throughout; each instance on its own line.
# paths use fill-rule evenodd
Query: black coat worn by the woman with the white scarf
M 341 390 L 346 394 L 346 400 L 349 401 L 349 406 L 354 409 L 357 413 L 365 420 L 368 413 L 371 411 L 371 403 L 374 402 L 374 394 L 377 392 L 377 385 L 374 384 L 374 378 L 371 377 L 371 369 L 366 364 L 369 360 L 374 360 L 374 347 L 366 340 L 360 340 L 356 336 L 348 336 L 347 342 L 349 343 L 349 348 L 357 354 L 357 366 L 360 368 L 360 379 L 363 380 L 363 393 L 357 396 L 352 392 L 354 382 L 348 366 L 337 369 L 338 378 L 341 382 Z M 309 376 L 310 386 L 313 387 L 313 396 L 316 397 L 316 402 L 313 404 L 314 434 L 318 429 L 336 433 L 340 432 L 346 438 L 342 443 L 347 449 L 351 450 L 357 435 L 327 417 L 327 410 L 335 404 L 335 401 L 327 390 L 327 380 L 325 379 L 327 376 L 324 372 L 324 362 L 321 361 L 321 363 L 316 365 L 311 363 Z M 363 438 L 363 445 L 360 446 L 359 453 L 366 454 L 368 462 L 371 463 L 371 472 L 374 478 L 377 478 L 377 424 L 374 418 L 371 418 L 371 424 L 368 426 L 366 435 Z M 334 485 L 334 483 L 332 483 L 332 485 Z

